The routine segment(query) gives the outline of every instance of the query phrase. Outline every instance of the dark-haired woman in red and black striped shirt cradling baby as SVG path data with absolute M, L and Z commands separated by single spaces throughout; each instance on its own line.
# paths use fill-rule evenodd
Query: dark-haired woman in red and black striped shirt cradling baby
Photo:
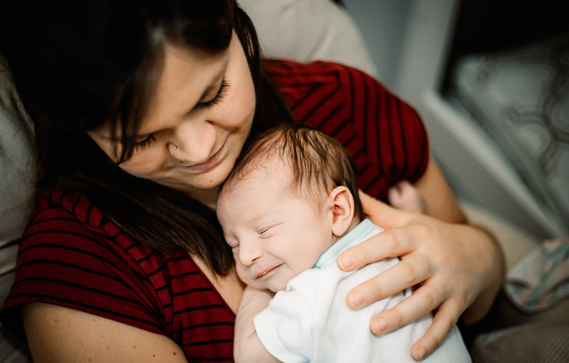
M 41 193 L 0 318 L 25 327 L 35 362 L 230 361 L 244 286 L 213 209 L 248 138 L 279 122 L 338 138 L 374 196 L 400 179 L 425 196 L 430 217 L 364 196 L 392 229 L 339 258 L 345 269 L 403 261 L 354 287 L 353 308 L 422 284 L 374 317 L 373 332 L 437 309 L 419 359 L 462 312 L 474 321 L 489 309 L 503 265 L 494 241 L 465 224 L 416 113 L 368 76 L 329 63 L 261 68 L 230 0 L 4 8 L 0 53 L 36 124 Z

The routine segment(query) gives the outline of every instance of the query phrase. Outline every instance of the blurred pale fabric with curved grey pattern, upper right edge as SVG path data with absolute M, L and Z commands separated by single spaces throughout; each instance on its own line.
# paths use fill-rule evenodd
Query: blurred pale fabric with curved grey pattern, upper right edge
M 569 34 L 462 58 L 451 87 L 569 233 Z

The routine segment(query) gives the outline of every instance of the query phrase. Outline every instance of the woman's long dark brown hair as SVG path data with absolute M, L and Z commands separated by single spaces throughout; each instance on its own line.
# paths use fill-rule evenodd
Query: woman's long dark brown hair
M 0 53 L 36 128 L 38 187 L 80 191 L 134 240 L 194 253 L 226 275 L 233 256 L 215 211 L 122 171 L 86 132 L 114 123 L 124 145 L 119 163 L 129 159 L 166 41 L 216 53 L 233 31 L 257 90 L 252 137 L 292 117 L 262 72 L 255 29 L 234 0 L 2 1 Z

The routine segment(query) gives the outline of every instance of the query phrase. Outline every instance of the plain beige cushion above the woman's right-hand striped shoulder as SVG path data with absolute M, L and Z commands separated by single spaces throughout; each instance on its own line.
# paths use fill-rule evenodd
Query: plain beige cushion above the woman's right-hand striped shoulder
M 377 77 L 356 23 L 344 7 L 331 0 L 238 0 L 238 3 L 255 24 L 266 58 L 335 61 Z

